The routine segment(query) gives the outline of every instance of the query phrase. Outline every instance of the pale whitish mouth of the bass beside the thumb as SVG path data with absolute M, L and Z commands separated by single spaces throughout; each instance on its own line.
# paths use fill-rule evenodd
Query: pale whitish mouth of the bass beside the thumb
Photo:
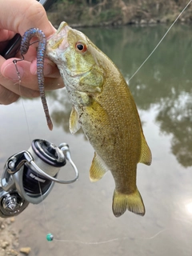
M 68 26 L 66 22 L 62 22 L 56 33 L 47 38 L 46 54 L 48 56 L 52 50 L 66 50 L 69 46 L 69 43 L 67 42 L 67 34 L 69 30 L 70 26 Z

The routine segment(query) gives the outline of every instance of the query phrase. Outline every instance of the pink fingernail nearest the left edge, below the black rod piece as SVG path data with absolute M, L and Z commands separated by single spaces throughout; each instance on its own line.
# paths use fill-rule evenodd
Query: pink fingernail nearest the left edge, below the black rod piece
M 11 80 L 19 80 L 19 77 L 22 78 L 23 69 L 21 66 L 18 66 L 18 65 L 16 69 L 16 66 L 14 65 L 14 63 L 10 63 L 4 67 L 4 69 L 2 70 L 2 75 L 5 78 L 9 78 Z

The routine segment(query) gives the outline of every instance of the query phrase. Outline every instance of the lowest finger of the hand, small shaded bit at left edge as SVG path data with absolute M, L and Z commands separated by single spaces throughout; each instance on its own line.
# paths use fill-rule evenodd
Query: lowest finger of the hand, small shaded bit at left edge
M 0 104 L 9 105 L 13 102 L 16 102 L 18 98 L 19 98 L 18 94 L 14 94 L 14 92 L 0 85 Z

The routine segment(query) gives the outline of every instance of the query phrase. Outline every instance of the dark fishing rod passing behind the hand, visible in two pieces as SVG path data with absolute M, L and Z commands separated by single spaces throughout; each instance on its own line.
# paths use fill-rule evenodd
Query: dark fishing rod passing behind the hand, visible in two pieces
M 27 1 L 27 0 L 26 0 Z M 45 8 L 45 10 L 48 10 L 50 6 L 55 2 L 55 0 L 37 0 L 42 4 L 42 6 Z M 20 44 L 22 41 L 21 34 L 15 34 L 14 38 L 10 39 L 8 42 L 6 48 L 0 52 L 3 58 L 14 58 L 15 54 L 17 54 Z

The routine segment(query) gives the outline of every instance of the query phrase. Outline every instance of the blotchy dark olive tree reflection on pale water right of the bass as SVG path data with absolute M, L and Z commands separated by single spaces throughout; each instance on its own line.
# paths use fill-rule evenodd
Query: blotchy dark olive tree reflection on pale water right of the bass
M 184 88 L 185 89 L 185 88 Z M 173 134 L 171 151 L 182 166 L 192 166 L 192 102 L 191 95 L 182 91 L 164 98 L 156 118 L 166 134 Z

